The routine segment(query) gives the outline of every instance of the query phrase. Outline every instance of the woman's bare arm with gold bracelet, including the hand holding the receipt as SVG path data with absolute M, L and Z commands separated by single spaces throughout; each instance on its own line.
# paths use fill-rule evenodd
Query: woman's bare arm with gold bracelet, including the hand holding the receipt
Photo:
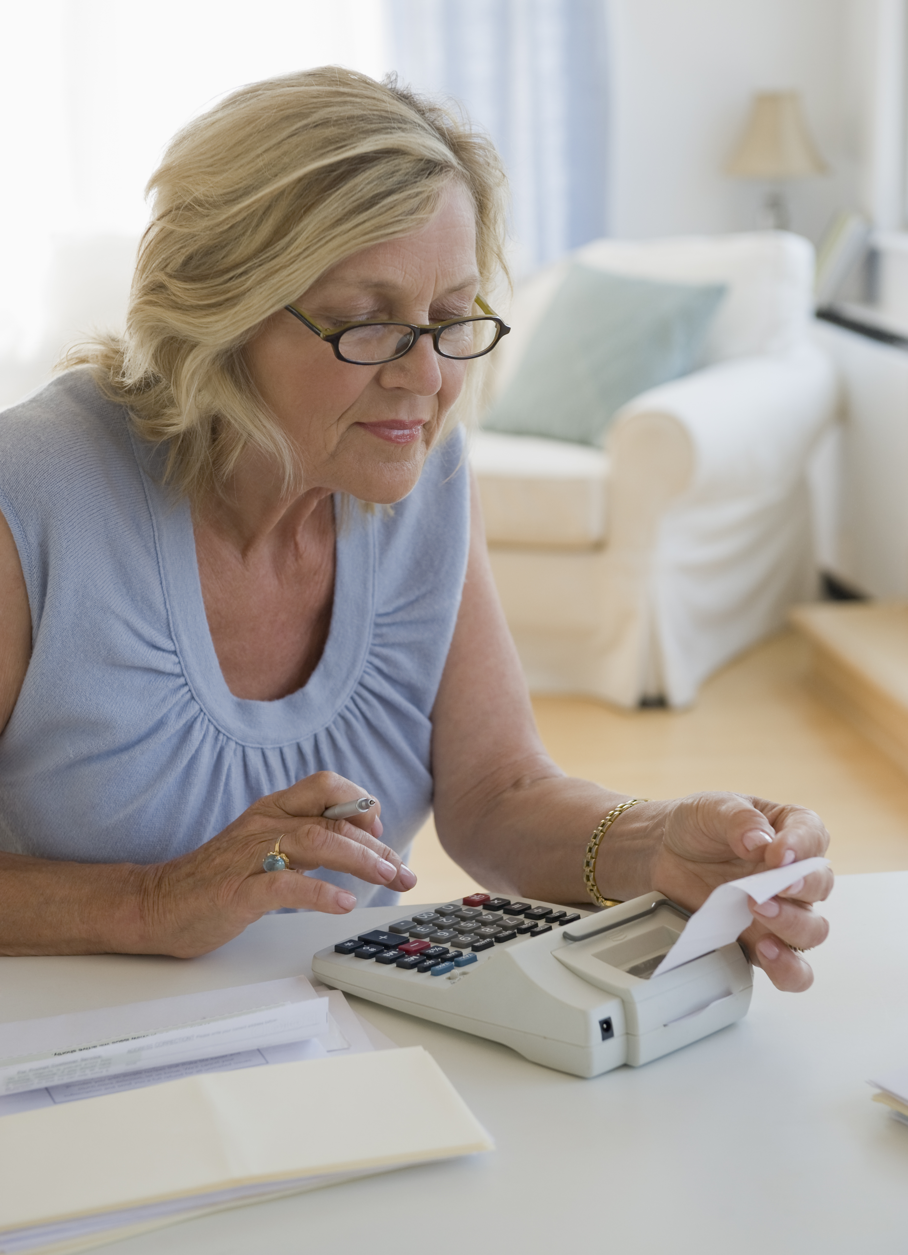
M 475 486 L 467 581 L 433 712 L 433 774 L 441 843 L 477 880 L 512 895 L 587 900 L 587 841 L 627 794 L 568 778 L 539 740 L 494 589 Z M 646 802 L 610 828 L 597 882 L 606 897 L 657 889 L 696 907 L 717 884 L 824 853 L 828 840 L 813 812 L 736 793 Z M 831 873 L 815 872 L 774 899 L 774 917 L 756 910 L 744 941 L 780 988 L 810 984 L 810 969 L 790 948 L 823 941 L 826 924 L 811 904 L 830 887 Z

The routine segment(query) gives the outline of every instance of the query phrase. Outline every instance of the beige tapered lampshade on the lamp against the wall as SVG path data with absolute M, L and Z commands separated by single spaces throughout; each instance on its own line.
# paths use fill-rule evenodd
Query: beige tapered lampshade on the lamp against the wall
M 808 132 L 798 92 L 760 92 L 744 138 L 725 167 L 741 178 L 803 178 L 826 163 Z

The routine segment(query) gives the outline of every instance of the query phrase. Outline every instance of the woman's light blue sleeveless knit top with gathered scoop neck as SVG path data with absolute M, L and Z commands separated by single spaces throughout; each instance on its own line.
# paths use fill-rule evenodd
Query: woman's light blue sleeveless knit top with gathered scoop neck
M 393 513 L 344 511 L 325 653 L 277 702 L 227 688 L 189 506 L 159 468 L 87 370 L 0 414 L 0 510 L 33 625 L 0 735 L 0 848 L 162 862 L 263 794 L 334 771 L 381 799 L 384 840 L 406 857 L 431 806 L 430 714 L 467 569 L 462 433 Z M 396 899 L 319 875 L 361 906 Z

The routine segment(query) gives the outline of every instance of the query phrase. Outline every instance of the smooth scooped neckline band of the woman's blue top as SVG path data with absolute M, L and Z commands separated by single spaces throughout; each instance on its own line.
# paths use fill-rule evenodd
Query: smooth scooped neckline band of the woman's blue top
M 208 719 L 245 745 L 273 748 L 327 727 L 349 702 L 365 666 L 375 619 L 375 527 L 371 515 L 334 496 L 335 585 L 321 658 L 301 689 L 273 702 L 238 698 L 227 686 L 208 628 L 192 511 L 162 482 L 161 458 L 130 432 L 158 548 L 173 644 L 186 681 Z

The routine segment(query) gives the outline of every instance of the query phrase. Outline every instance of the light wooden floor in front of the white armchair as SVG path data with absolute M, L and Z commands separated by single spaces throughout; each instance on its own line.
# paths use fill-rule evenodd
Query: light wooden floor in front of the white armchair
M 538 698 L 536 717 L 554 761 L 641 797 L 735 789 L 818 811 L 838 872 L 908 870 L 908 776 L 808 690 L 808 649 L 776 636 L 709 680 L 691 710 L 620 712 L 578 698 Z M 419 833 L 411 901 L 477 887 L 444 853 L 431 825 Z

